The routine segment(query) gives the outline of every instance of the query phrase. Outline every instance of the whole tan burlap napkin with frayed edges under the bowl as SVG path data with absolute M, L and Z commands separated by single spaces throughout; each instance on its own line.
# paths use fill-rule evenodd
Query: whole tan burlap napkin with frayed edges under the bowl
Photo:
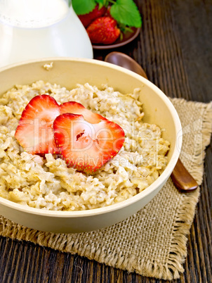
M 171 99 L 183 124 L 181 160 L 199 184 L 204 149 L 210 142 L 212 103 Z M 182 194 L 171 178 L 145 208 L 112 227 L 81 234 L 53 234 L 27 229 L 0 218 L 0 235 L 67 253 L 78 253 L 114 268 L 148 277 L 173 279 L 183 272 L 187 235 L 199 189 Z

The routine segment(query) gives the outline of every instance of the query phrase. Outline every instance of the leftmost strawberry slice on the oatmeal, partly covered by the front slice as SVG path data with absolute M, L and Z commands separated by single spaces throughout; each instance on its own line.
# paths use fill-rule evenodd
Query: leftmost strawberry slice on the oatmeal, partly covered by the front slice
M 22 112 L 15 138 L 29 153 L 59 153 L 53 139 L 53 121 L 60 107 L 53 97 L 35 96 Z

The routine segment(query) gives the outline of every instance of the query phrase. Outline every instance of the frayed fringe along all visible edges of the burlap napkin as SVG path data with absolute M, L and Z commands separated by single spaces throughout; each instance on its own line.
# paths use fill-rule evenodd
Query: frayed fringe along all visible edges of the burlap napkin
M 194 103 L 192 101 L 185 101 L 184 99 L 171 99 L 175 103 Z M 211 122 L 212 122 L 212 103 L 197 103 L 197 106 L 202 110 L 203 118 L 203 146 L 204 150 L 210 143 L 211 139 Z M 194 154 L 195 155 L 195 154 Z M 203 165 L 205 152 L 195 156 L 196 162 L 192 166 L 190 173 L 197 180 L 198 184 L 202 182 Z M 201 158 L 201 160 L 199 159 Z M 99 263 L 105 263 L 114 268 L 128 270 L 128 272 L 137 272 L 140 275 L 147 277 L 156 277 L 159 279 L 177 279 L 180 277 L 180 272 L 183 272 L 183 263 L 187 256 L 187 235 L 190 233 L 190 227 L 194 219 L 195 208 L 199 199 L 199 189 L 188 194 L 182 194 L 178 205 L 177 218 L 173 223 L 172 240 L 168 261 L 166 265 L 159 263 L 139 262 L 135 255 L 123 256 L 118 253 L 107 251 L 104 247 L 96 247 L 93 244 L 79 245 L 79 241 L 72 239 L 72 234 L 53 234 L 46 232 L 39 232 L 34 229 L 22 227 L 15 224 L 6 218 L 0 218 L 0 235 L 9 237 L 11 239 L 18 239 L 20 241 L 32 241 L 34 244 L 46 246 L 51 249 L 62 252 L 69 252 L 72 254 L 79 254 L 85 256 L 90 260 L 96 260 Z

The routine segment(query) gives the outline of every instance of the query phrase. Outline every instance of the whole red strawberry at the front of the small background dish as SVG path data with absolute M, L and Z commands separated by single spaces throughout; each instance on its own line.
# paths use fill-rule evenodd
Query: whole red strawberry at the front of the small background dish
M 110 17 L 95 19 L 86 30 L 94 44 L 112 44 L 120 35 L 117 21 Z

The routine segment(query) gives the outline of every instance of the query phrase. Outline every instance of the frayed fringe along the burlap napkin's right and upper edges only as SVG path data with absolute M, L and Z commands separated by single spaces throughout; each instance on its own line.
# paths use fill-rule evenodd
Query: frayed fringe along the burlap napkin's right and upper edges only
M 194 103 L 193 101 L 185 101 L 185 99 L 171 99 L 171 101 L 173 104 L 178 103 L 178 105 L 180 103 L 186 103 L 187 106 Z M 202 111 L 202 144 L 199 144 L 199 146 L 195 148 L 193 156 L 194 163 L 192 164 L 190 174 L 200 185 L 204 173 L 203 163 L 206 155 L 205 149 L 211 142 L 212 102 L 208 104 L 196 102 L 195 105 L 198 108 L 201 108 Z M 160 267 L 154 265 L 154 268 L 158 268 L 157 276 L 155 277 L 169 280 L 178 279 L 180 277 L 180 272 L 184 272 L 183 263 L 187 256 L 187 235 L 190 233 L 190 228 L 194 220 L 199 194 L 199 188 L 196 191 L 182 194 L 183 198 L 178 206 L 178 216 L 175 218 L 175 223 L 173 225 L 173 237 L 171 240 L 171 253 L 169 253 L 168 265 L 162 265 Z

